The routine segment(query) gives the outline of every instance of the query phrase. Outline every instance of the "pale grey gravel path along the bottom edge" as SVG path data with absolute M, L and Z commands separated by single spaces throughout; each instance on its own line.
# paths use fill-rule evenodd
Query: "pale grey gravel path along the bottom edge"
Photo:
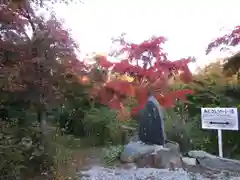
M 240 178 L 215 174 L 211 178 L 199 173 L 188 173 L 184 170 L 169 171 L 167 169 L 138 168 L 138 169 L 109 169 L 93 167 L 79 174 L 79 180 L 240 180 Z

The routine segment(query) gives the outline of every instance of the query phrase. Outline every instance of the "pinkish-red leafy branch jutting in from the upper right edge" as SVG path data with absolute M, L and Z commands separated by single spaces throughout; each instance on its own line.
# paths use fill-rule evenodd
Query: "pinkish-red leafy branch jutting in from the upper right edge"
M 240 43 L 240 26 L 236 26 L 230 33 L 214 39 L 208 44 L 206 54 L 210 53 L 213 49 L 224 46 L 237 46 Z

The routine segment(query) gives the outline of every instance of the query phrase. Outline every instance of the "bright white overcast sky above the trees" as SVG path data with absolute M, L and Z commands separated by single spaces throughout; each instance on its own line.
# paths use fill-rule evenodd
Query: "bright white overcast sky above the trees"
M 152 35 L 165 36 L 169 59 L 195 56 L 202 66 L 218 56 L 205 55 L 207 44 L 240 25 L 238 0 L 84 0 L 55 5 L 57 16 L 72 29 L 83 54 L 107 53 L 111 38 L 122 32 L 141 42 Z

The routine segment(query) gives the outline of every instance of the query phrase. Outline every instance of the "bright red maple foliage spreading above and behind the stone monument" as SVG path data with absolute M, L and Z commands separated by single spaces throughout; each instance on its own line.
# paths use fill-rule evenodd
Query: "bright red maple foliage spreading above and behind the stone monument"
M 95 96 L 100 102 L 109 108 L 125 112 L 124 99 L 133 97 L 137 100 L 137 106 L 131 113 L 143 108 L 151 90 L 160 104 L 165 108 L 172 107 L 176 99 L 185 100 L 185 95 L 192 93 L 191 90 L 179 90 L 169 92 L 168 81 L 172 77 L 180 76 L 184 83 L 192 79 L 188 63 L 193 58 L 183 58 L 170 61 L 163 51 L 164 37 L 152 37 L 140 44 L 129 43 L 121 38 L 120 50 L 117 52 L 126 57 L 120 62 L 111 62 L 105 56 L 96 56 L 98 66 L 104 72 L 117 73 L 132 78 L 132 81 L 119 78 L 102 78 L 102 84 L 93 88 Z

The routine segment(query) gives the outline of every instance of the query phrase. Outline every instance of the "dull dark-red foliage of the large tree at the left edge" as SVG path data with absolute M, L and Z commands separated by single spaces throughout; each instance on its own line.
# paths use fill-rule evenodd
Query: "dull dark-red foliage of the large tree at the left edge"
M 0 4 L 0 27 L 3 91 L 18 93 L 18 98 L 33 104 L 53 102 L 62 97 L 60 84 L 66 74 L 79 76 L 87 70 L 76 57 L 77 45 L 54 16 L 44 20 Z

